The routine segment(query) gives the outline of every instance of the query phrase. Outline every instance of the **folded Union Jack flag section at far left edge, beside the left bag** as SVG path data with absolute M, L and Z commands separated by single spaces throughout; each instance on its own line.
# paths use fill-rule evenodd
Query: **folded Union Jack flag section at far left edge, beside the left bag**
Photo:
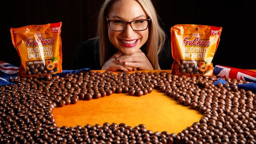
M 0 86 L 9 85 L 9 77 L 17 77 L 19 67 L 0 61 Z

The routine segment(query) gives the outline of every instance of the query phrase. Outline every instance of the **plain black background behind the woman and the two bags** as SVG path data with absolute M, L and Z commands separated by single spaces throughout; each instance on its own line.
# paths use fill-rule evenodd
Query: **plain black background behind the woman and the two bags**
M 95 37 L 98 11 L 104 0 L 26 0 L 7 1 L 2 7 L 5 32 L 0 61 L 20 66 L 20 58 L 11 42 L 10 28 L 62 22 L 63 69 L 72 69 L 81 42 Z M 176 24 L 201 24 L 223 27 L 213 65 L 256 69 L 252 39 L 253 25 L 245 1 L 152 0 L 161 18 L 161 26 L 170 39 L 170 28 Z M 3 9 L 6 9 L 3 11 Z M 249 16 L 249 17 L 248 17 Z M 254 16 L 253 16 L 254 17 Z M 2 34 L 4 35 L 4 34 Z M 172 60 L 173 61 L 173 60 Z M 86 63 L 86 62 L 85 62 Z M 170 68 L 171 69 L 171 68 Z

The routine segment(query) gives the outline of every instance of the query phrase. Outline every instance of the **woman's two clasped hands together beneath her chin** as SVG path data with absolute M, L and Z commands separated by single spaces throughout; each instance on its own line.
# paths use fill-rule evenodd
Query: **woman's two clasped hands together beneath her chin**
M 140 49 L 132 55 L 126 55 L 121 51 L 118 51 L 102 66 L 102 70 L 113 71 L 135 71 L 137 69 L 153 70 L 153 67 L 147 56 Z

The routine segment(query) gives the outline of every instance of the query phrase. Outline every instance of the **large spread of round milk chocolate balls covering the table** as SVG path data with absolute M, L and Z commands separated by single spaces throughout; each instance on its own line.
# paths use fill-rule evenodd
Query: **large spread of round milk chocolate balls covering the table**
M 9 78 L 15 84 L 0 87 L 0 143 L 255 144 L 256 94 L 238 89 L 238 84 L 249 82 L 224 80 L 228 83 L 214 85 L 216 76 L 109 71 Z M 112 93 L 143 96 L 153 89 L 199 111 L 202 118 L 177 134 L 154 132 L 144 124 L 58 127 L 54 122 L 55 107 Z

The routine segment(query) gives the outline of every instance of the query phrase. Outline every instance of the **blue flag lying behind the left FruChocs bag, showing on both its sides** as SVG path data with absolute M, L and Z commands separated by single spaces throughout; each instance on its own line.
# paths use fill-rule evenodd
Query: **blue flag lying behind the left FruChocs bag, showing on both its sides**
M 63 70 L 62 73 L 58 73 L 58 75 L 64 76 L 65 74 L 70 74 L 70 73 L 76 74 L 83 70 L 91 70 L 91 69 L 83 68 L 80 70 Z M 19 72 L 19 67 L 0 61 L 0 86 L 14 84 L 9 82 L 9 77 L 16 78 L 18 76 L 18 72 Z

